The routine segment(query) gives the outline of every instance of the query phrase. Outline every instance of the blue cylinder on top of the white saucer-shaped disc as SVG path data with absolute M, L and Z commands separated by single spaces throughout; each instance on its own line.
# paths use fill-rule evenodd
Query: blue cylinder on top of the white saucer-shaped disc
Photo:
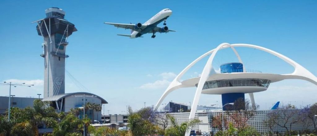
M 225 63 L 220 65 L 220 73 L 243 72 L 242 63 Z

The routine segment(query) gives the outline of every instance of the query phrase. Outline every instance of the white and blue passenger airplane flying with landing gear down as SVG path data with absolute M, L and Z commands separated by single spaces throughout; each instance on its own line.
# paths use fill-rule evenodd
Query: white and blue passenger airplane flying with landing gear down
M 144 24 L 137 23 L 137 24 L 119 24 L 119 23 L 108 23 L 105 22 L 105 24 L 113 25 L 117 28 L 125 28 L 125 29 L 131 29 L 131 34 L 117 34 L 120 36 L 127 36 L 130 38 L 138 38 L 142 37 L 143 34 L 152 33 L 152 38 L 155 38 L 155 33 L 167 33 L 167 32 L 176 32 L 175 30 L 170 30 L 166 26 L 166 19 L 172 14 L 171 9 L 163 9 L 156 15 L 154 15 L 151 19 L 146 21 Z M 161 22 L 163 22 L 163 27 L 157 27 L 157 25 Z

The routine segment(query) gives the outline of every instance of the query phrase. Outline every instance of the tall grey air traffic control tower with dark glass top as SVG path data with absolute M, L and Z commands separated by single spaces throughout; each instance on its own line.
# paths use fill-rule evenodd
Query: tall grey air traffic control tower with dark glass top
M 35 21 L 38 35 L 43 37 L 44 98 L 65 93 L 65 59 L 67 38 L 77 31 L 75 25 L 64 19 L 59 8 L 45 10 L 46 18 Z M 34 22 L 34 23 L 35 23 Z

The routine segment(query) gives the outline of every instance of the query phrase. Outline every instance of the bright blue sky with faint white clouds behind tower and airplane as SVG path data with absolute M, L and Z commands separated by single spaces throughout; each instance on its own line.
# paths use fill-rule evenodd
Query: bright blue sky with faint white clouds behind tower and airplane
M 65 19 L 78 29 L 68 38 L 66 69 L 91 93 L 106 99 L 105 112 L 122 114 L 155 105 L 169 82 L 191 61 L 223 42 L 263 46 L 298 62 L 317 75 L 317 1 L 0 1 L 0 81 L 34 83 L 17 87 L 12 94 L 37 97 L 43 93 L 44 60 L 42 37 L 36 24 L 44 10 L 59 7 Z M 177 32 L 129 39 L 130 34 L 103 22 L 146 22 L 164 8 L 173 11 L 167 26 Z M 163 26 L 159 24 L 158 26 Z M 254 49 L 237 48 L 246 69 L 286 74 L 294 69 L 275 56 Z M 216 67 L 237 62 L 229 49 L 220 51 Z M 198 76 L 202 59 L 184 80 Z M 80 91 L 66 74 L 66 93 Z M 189 103 L 195 88 L 172 92 L 168 101 Z M 0 96 L 9 87 L 0 86 Z M 296 106 L 316 102 L 317 87 L 307 81 L 271 83 L 267 91 L 255 93 L 261 109 L 275 102 Z M 246 95 L 246 98 L 249 98 Z M 218 102 L 217 102 L 218 101 Z M 296 101 L 296 102 L 295 102 Z M 202 95 L 199 105 L 220 104 L 220 95 Z

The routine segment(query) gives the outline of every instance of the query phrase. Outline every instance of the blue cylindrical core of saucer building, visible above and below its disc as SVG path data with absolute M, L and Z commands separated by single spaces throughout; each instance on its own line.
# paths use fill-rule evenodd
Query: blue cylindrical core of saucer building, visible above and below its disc
M 220 72 L 221 73 L 243 72 L 243 64 L 242 63 L 225 63 L 223 65 L 220 65 Z M 221 98 L 222 98 L 222 105 L 225 105 L 231 102 L 235 102 L 239 98 L 242 98 L 244 100 L 244 93 L 222 94 Z M 225 107 L 223 107 L 223 110 L 230 109 L 230 106 L 231 105 L 226 105 Z

